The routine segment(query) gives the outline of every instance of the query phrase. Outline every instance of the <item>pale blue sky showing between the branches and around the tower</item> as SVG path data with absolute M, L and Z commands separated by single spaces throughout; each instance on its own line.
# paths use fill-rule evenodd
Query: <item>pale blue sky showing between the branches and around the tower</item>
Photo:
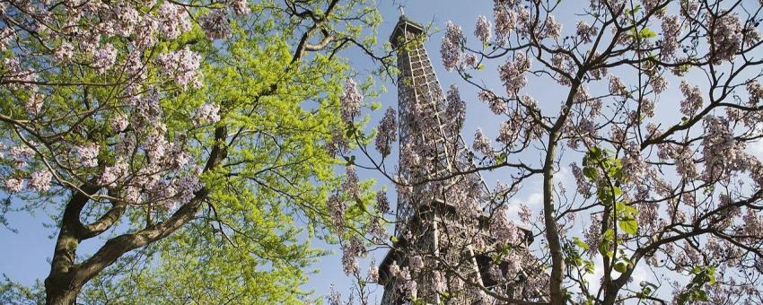
M 579 4 L 585 2 L 568 2 L 569 4 Z M 574 3 L 574 4 L 573 4 Z M 477 20 L 477 16 L 482 14 L 492 19 L 492 0 L 409 0 L 409 1 L 392 1 L 392 0 L 380 0 L 379 5 L 382 12 L 382 26 L 378 30 L 379 41 L 386 41 L 389 38 L 390 32 L 398 21 L 399 11 L 398 4 L 405 5 L 405 13 L 408 18 L 421 23 L 432 22 L 436 28 L 443 28 L 443 24 L 447 21 L 453 21 L 459 24 L 469 41 L 471 46 L 475 45 L 477 39 L 474 38 L 472 32 L 474 30 L 474 22 Z M 563 36 L 570 33 L 574 28 L 575 17 L 572 15 L 573 10 L 560 10 L 561 13 L 557 13 L 557 20 L 564 24 Z M 495 138 L 496 130 L 502 121 L 502 118 L 493 115 L 487 106 L 477 100 L 477 92 L 469 86 L 464 85 L 464 82 L 460 80 L 459 76 L 455 73 L 449 73 L 443 69 L 440 54 L 439 45 L 440 39 L 442 39 L 443 32 L 435 32 L 434 35 L 427 40 L 426 48 L 429 56 L 433 61 L 435 71 L 440 79 L 444 88 L 447 88 L 451 84 L 455 83 L 460 85 L 461 98 L 467 102 L 467 117 L 464 126 L 464 137 L 470 144 L 474 130 L 481 127 L 485 130 L 486 134 L 490 138 Z M 351 64 L 360 70 L 361 73 L 368 73 L 373 70 L 373 64 L 368 57 L 364 57 L 357 51 L 348 51 L 345 54 L 350 58 Z M 495 89 L 496 92 L 503 92 L 501 90 L 501 83 L 497 78 L 496 67 L 503 64 L 503 60 L 493 61 L 487 63 L 487 69 L 475 76 L 482 82 L 484 82 L 488 88 Z M 698 81 L 700 75 L 689 75 L 689 79 Z M 670 80 L 669 80 L 670 81 Z M 377 80 L 378 85 L 386 86 L 387 92 L 382 93 L 379 98 L 367 101 L 379 101 L 382 103 L 382 109 L 372 114 L 373 125 L 378 122 L 382 116 L 383 109 L 387 107 L 397 107 L 397 91 L 386 79 Z M 682 96 L 678 91 L 678 83 L 673 80 L 668 92 L 662 94 L 660 100 L 657 103 L 657 118 L 661 121 L 674 122 L 676 119 L 680 119 L 675 114 L 678 113 L 677 104 L 682 100 Z M 547 86 L 548 83 L 544 81 L 533 82 L 530 79 L 530 84 L 524 92 L 530 93 L 535 100 L 539 101 L 541 109 L 544 111 L 554 111 L 554 108 L 561 102 L 566 95 L 566 92 L 554 92 L 548 90 L 548 88 L 561 88 L 558 86 Z M 553 112 L 548 112 L 553 113 Z M 753 145 L 751 150 L 754 153 L 763 152 L 761 145 Z M 395 157 L 393 154 L 392 157 Z M 539 156 L 537 154 L 520 155 L 518 158 L 526 159 L 527 161 L 538 161 Z M 533 159 L 535 158 L 535 159 Z M 574 161 L 576 156 L 572 155 L 570 161 L 563 161 L 562 164 L 568 164 Z M 364 163 L 362 158 L 358 158 L 360 163 Z M 394 160 L 390 160 L 394 161 Z M 381 177 L 378 173 L 361 171 L 362 178 L 376 179 L 379 186 L 388 186 L 389 182 Z M 488 185 L 495 186 L 496 181 L 500 179 L 507 179 L 506 173 L 491 172 L 486 173 L 485 178 Z M 571 177 L 566 168 L 562 168 L 557 174 L 557 179 L 561 181 L 566 188 L 570 191 L 574 191 L 574 180 Z M 539 210 L 540 196 L 539 181 L 529 181 L 516 196 L 517 202 L 522 202 L 530 205 L 535 211 Z M 388 193 L 390 200 L 394 202 L 395 195 L 392 191 Z M 587 215 L 583 215 L 584 220 L 587 220 Z M 50 228 L 46 228 L 42 225 L 43 222 L 49 222 L 49 217 L 46 213 L 40 212 L 35 215 L 28 213 L 12 213 L 9 214 L 8 222 L 11 227 L 18 230 L 18 233 L 13 233 L 4 228 L 0 228 L 0 240 L 4 245 L 4 249 L 0 251 L 0 273 L 9 275 L 13 280 L 20 281 L 21 283 L 31 284 L 36 279 L 43 279 L 48 274 L 48 259 L 53 252 L 54 240 L 50 239 L 55 235 L 55 231 Z M 92 248 L 94 245 L 83 245 L 83 248 Z M 315 240 L 313 246 L 321 248 L 332 248 L 329 245 L 322 244 L 320 240 Z M 386 250 L 376 251 L 370 254 L 370 257 L 364 259 L 362 262 L 362 270 L 365 270 L 371 259 L 381 261 Z M 335 248 L 335 252 L 338 249 Z M 315 290 L 317 295 L 325 295 L 329 292 L 329 286 L 331 284 L 336 285 L 336 289 L 346 297 L 351 285 L 350 279 L 342 272 L 340 265 L 340 254 L 334 254 L 328 257 L 323 257 L 323 260 L 314 266 L 319 269 L 320 272 L 311 276 L 310 281 L 304 286 L 305 289 Z M 636 276 L 649 277 L 648 274 L 636 274 Z M 638 280 L 636 279 L 636 283 Z M 382 289 L 379 287 L 376 293 L 373 294 L 374 298 L 381 298 Z

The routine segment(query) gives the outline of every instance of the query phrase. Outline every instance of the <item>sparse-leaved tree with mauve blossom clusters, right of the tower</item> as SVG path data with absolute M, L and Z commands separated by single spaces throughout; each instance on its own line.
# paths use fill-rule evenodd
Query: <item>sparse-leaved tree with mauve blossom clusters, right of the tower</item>
M 429 130 L 442 109 L 422 100 L 405 109 L 398 124 L 389 110 L 376 135 L 380 154 L 361 147 L 370 161 L 364 166 L 394 182 L 399 202 L 418 203 L 413 213 L 429 208 L 423 198 L 444 197 L 461 219 L 486 222 L 477 228 L 490 236 L 483 248 L 492 258 L 485 271 L 492 283 L 469 281 L 472 275 L 463 273 L 450 277 L 460 285 L 438 275 L 422 283 L 431 279 L 417 278 L 421 257 L 436 261 L 430 266 L 436 274 L 459 271 L 458 264 L 479 257 L 449 261 L 408 249 L 406 267 L 388 271 L 401 283 L 403 299 L 417 300 L 422 287 L 448 299 L 470 286 L 484 300 L 513 303 L 763 301 L 763 161 L 750 151 L 763 135 L 761 6 L 496 0 L 493 18 L 477 18 L 475 43 L 446 23 L 443 65 L 476 87 L 478 100 L 504 121 L 493 127 L 496 139 L 477 130 L 465 145 L 458 130 Z M 576 23 L 563 25 L 555 14 Z M 491 63 L 496 70 L 486 70 Z M 495 77 L 492 71 L 503 88 L 475 76 Z M 534 83 L 557 92 L 556 100 L 534 100 L 528 93 Z M 435 127 L 458 129 L 465 107 L 457 87 L 446 100 L 445 123 Z M 396 126 L 436 140 L 400 147 L 399 170 L 386 170 Z M 439 164 L 433 157 L 440 144 L 460 165 L 432 165 Z M 404 175 L 412 169 L 424 174 Z M 507 184 L 484 189 L 471 182 L 475 172 L 487 170 L 503 173 Z M 572 172 L 576 192 L 558 179 L 560 170 Z M 512 200 L 530 179 L 542 182 L 537 214 Z M 530 257 L 518 250 L 522 242 L 509 210 L 519 211 L 539 238 Z M 478 233 L 469 236 L 449 252 L 484 242 Z M 531 272 L 532 262 L 544 267 Z M 655 275 L 634 281 L 638 272 Z M 516 289 L 522 284 L 533 287 Z

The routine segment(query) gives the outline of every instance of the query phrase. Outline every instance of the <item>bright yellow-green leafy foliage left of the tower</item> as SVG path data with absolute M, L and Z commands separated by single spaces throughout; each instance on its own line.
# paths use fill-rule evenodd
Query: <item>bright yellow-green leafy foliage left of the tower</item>
M 309 299 L 311 292 L 299 287 L 309 266 L 326 254 L 311 248 L 310 240 L 337 238 L 319 232 L 330 223 L 329 192 L 340 190 L 343 179 L 336 170 L 345 162 L 327 146 L 345 128 L 338 97 L 350 67 L 340 57 L 317 53 L 294 63 L 294 28 L 278 14 L 263 17 L 266 7 L 252 8 L 259 20 L 233 24 L 232 39 L 198 43 L 194 48 L 206 57 L 205 86 L 162 100 L 168 134 L 192 138 L 197 158 L 215 144 L 208 130 L 189 121 L 204 103 L 220 105 L 222 119 L 216 126 L 226 126 L 235 136 L 235 141 L 220 143 L 226 145 L 224 165 L 203 176 L 210 195 L 201 212 L 170 237 L 122 257 L 85 286 L 81 301 L 262 304 Z M 352 13 L 349 8 L 338 12 L 332 18 Z M 355 36 L 360 30 L 346 29 Z M 367 222 L 372 185 L 362 183 L 361 196 L 347 206 L 348 225 L 360 228 Z M 144 222 L 145 213 L 131 211 L 125 225 Z

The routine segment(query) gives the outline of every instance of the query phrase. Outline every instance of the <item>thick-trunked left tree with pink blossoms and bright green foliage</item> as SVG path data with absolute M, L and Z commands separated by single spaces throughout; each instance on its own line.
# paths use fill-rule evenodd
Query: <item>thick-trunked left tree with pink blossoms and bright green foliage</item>
M 90 301 L 300 297 L 319 253 L 294 219 L 331 223 L 343 181 L 336 54 L 378 21 L 358 0 L 0 4 L 4 213 L 57 214 L 47 303 L 92 281 Z

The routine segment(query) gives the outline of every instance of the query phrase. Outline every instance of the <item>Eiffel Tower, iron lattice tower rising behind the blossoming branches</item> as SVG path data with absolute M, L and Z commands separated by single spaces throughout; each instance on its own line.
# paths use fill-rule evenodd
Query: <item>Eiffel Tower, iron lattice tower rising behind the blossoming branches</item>
M 515 289 L 497 283 L 488 271 L 492 266 L 495 274 L 497 266 L 505 274 L 509 262 L 496 264 L 488 254 L 495 243 L 487 236 L 491 214 L 478 203 L 478 195 L 466 199 L 478 206 L 479 216 L 465 218 L 460 211 L 469 205 L 444 190 L 479 184 L 487 191 L 487 186 L 478 173 L 451 174 L 473 165 L 460 127 L 452 126 L 446 118 L 446 100 L 424 48 L 425 39 L 424 27 L 404 14 L 390 36 L 399 69 L 399 178 L 412 186 L 406 196 L 398 194 L 392 248 L 379 268 L 379 283 L 384 286 L 382 304 L 487 304 L 491 302 L 486 301 L 484 292 L 473 287 L 502 289 L 504 294 Z M 424 165 L 410 168 L 404 164 L 402 151 L 406 147 L 417 150 Z M 526 248 L 532 235 L 521 232 Z M 411 295 L 411 282 L 416 283 L 416 295 Z

